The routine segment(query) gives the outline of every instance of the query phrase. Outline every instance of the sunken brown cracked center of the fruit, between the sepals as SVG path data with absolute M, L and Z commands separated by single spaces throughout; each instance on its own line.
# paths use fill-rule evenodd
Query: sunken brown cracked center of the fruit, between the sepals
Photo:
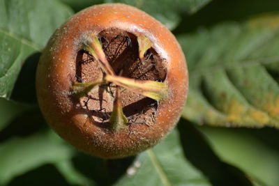
M 116 75 L 140 80 L 163 82 L 167 70 L 159 54 L 151 47 L 139 58 L 137 37 L 133 33 L 120 29 L 105 29 L 98 34 L 107 61 Z M 77 53 L 75 82 L 94 82 L 103 77 L 104 72 L 98 61 L 84 50 Z M 94 88 L 86 98 L 80 100 L 80 106 L 91 111 L 95 121 L 103 123 L 110 118 L 115 94 L 115 85 L 106 84 Z M 151 125 L 156 121 L 158 102 L 144 95 L 121 88 L 123 112 L 130 123 Z

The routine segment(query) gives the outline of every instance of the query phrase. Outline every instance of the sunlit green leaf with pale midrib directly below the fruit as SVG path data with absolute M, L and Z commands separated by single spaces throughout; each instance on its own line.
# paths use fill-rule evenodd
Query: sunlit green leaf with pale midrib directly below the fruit
M 140 154 L 116 185 L 210 185 L 183 156 L 176 130 L 153 149 Z

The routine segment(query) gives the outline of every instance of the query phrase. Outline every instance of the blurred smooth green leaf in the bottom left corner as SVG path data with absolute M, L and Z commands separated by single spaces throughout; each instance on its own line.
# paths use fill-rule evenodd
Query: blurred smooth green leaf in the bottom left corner
M 43 164 L 63 161 L 72 156 L 72 148 L 61 143 L 53 132 L 39 132 L 4 141 L 0 144 L 0 185 Z

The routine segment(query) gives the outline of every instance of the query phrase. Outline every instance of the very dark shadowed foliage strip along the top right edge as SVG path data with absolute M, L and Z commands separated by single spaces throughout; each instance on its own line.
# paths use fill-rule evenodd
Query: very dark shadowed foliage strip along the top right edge
M 279 10 L 277 0 L 214 0 L 206 4 L 205 8 L 189 16 L 183 16 L 181 24 L 174 30 L 174 34 L 197 31 L 209 28 L 220 22 L 242 22 L 254 15 L 276 12 Z

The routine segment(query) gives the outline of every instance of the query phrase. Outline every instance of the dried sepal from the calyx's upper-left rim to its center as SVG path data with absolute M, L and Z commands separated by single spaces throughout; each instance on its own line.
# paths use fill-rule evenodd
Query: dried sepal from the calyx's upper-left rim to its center
M 94 59 L 96 59 L 96 61 L 100 61 L 100 65 L 105 73 L 108 75 L 114 75 L 114 70 L 105 57 L 105 53 L 96 33 L 90 33 L 84 38 L 82 48 L 88 51 L 94 57 Z

